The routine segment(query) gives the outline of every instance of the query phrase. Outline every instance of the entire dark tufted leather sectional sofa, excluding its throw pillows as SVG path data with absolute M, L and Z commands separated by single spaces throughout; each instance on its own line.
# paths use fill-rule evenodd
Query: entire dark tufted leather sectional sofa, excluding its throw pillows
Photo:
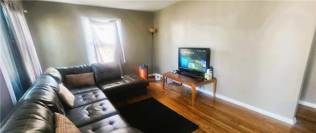
M 66 75 L 93 72 L 95 85 L 69 88 L 74 108 L 58 97 L 59 84 L 67 87 Z M 91 64 L 47 68 L 1 122 L 1 133 L 54 133 L 54 112 L 65 115 L 82 133 L 142 133 L 131 127 L 112 100 L 147 93 L 147 80 L 120 76 L 116 64 Z

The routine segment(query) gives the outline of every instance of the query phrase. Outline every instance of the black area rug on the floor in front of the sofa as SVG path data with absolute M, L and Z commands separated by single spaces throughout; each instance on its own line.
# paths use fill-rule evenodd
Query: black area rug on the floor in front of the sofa
M 118 108 L 134 128 L 144 133 L 192 133 L 198 126 L 154 98 Z

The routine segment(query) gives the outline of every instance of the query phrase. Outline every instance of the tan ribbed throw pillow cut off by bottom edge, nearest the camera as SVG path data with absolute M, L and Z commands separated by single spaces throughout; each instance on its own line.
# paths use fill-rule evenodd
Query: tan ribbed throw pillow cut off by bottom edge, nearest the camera
M 55 114 L 55 133 L 81 133 L 79 129 L 66 116 Z

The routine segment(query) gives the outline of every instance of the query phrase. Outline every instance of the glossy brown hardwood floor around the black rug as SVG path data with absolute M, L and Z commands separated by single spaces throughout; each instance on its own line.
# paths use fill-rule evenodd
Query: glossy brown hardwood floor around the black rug
M 188 89 L 173 84 L 163 90 L 162 81 L 150 81 L 147 94 L 115 102 L 115 105 L 153 97 L 196 123 L 199 128 L 194 133 L 316 133 L 316 109 L 299 105 L 297 123 L 291 126 L 204 93 L 197 94 L 196 104 L 192 106 Z

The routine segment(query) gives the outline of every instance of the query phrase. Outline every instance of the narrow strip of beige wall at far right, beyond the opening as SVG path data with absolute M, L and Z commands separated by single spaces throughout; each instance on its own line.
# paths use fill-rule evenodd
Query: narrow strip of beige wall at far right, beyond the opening
M 305 76 L 300 100 L 316 104 L 316 33 Z

